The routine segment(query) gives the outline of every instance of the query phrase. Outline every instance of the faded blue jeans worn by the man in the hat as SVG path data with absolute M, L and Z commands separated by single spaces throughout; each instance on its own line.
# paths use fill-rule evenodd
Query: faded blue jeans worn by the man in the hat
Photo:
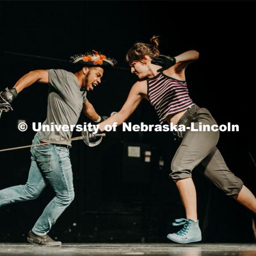
M 38 144 L 35 135 L 33 145 Z M 73 173 L 69 159 L 69 149 L 56 145 L 31 147 L 31 166 L 25 185 L 0 190 L 0 206 L 37 198 L 50 183 L 55 197 L 45 207 L 32 231 L 36 235 L 46 235 L 60 214 L 74 199 Z

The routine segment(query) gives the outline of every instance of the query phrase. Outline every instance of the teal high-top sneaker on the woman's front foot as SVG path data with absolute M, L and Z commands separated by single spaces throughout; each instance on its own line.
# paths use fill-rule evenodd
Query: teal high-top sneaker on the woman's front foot
M 184 227 L 177 233 L 168 234 L 167 238 L 170 240 L 182 244 L 193 243 L 202 240 L 202 234 L 198 221 L 195 222 L 190 219 L 177 219 L 174 223 L 172 223 L 172 225 L 184 225 Z

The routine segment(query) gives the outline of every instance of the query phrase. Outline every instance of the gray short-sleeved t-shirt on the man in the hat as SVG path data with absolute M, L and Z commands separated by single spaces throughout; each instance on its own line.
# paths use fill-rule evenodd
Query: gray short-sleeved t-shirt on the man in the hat
M 76 125 L 81 114 L 83 103 L 86 101 L 86 91 L 81 91 L 77 78 L 71 72 L 62 69 L 49 69 L 49 92 L 47 117 L 43 125 Z M 52 142 L 70 139 L 69 131 L 41 131 L 37 132 L 40 140 Z M 56 142 L 71 145 L 70 141 Z

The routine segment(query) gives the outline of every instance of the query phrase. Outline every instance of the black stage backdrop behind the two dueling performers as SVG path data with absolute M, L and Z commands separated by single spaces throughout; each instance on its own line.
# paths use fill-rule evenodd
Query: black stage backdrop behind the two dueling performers
M 0 6 L 1 91 L 30 70 L 71 70 L 61 59 L 97 50 L 119 63 L 87 94 L 101 115 L 118 111 L 136 81 L 124 61 L 135 41 L 149 42 L 156 34 L 161 36 L 164 54 L 199 51 L 199 60 L 186 70 L 190 95 L 197 105 L 211 111 L 218 124 L 239 124 L 239 132 L 221 133 L 218 147 L 230 170 L 256 192 L 251 158 L 255 159 L 255 149 L 251 132 L 247 133 L 243 93 L 249 85 L 241 69 L 246 65 L 243 56 L 253 23 L 249 20 L 251 2 L 5 1 Z M 31 123 L 44 121 L 46 106 L 47 85 L 34 84 L 22 91 L 13 103 L 14 111 L 1 117 L 1 148 L 29 145 L 35 134 Z M 30 129 L 19 132 L 18 119 L 25 119 Z M 81 115 L 79 123 L 88 121 Z M 146 101 L 128 121 L 158 123 Z M 128 157 L 128 146 L 140 147 L 141 157 Z M 177 230 L 172 221 L 185 217 L 177 188 L 169 179 L 177 147 L 170 133 L 120 129 L 109 132 L 95 148 L 73 142 L 70 158 L 76 197 L 50 235 L 62 242 L 167 242 L 166 234 Z M 150 162 L 145 162 L 145 151 L 151 151 Z M 29 149 L 0 153 L 0 163 L 0 189 L 26 182 Z M 196 169 L 193 178 L 203 242 L 251 242 L 252 214 Z M 53 196 L 48 187 L 35 201 L 2 207 L 0 242 L 26 241 Z

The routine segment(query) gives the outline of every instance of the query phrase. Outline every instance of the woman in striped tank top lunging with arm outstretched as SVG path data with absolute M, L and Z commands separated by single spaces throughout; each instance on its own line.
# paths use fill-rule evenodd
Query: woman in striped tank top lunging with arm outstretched
M 157 111 L 162 124 L 186 125 L 194 122 L 215 125 L 210 112 L 199 108 L 189 97 L 185 78 L 185 69 L 189 63 L 199 57 L 197 51 L 187 51 L 177 57 L 159 55 L 158 38 L 151 38 L 151 43 L 135 43 L 127 52 L 131 72 L 138 76 L 122 109 L 115 115 L 100 123 L 100 131 L 105 125 L 121 125 L 131 116 L 141 100 L 147 99 Z M 178 243 L 201 241 L 202 235 L 198 225 L 196 211 L 196 190 L 191 178 L 191 171 L 198 164 L 203 165 L 204 175 L 212 180 L 226 195 L 233 197 L 239 203 L 256 213 L 256 198 L 234 173 L 229 171 L 216 145 L 219 131 L 194 132 L 186 130 L 175 132 L 182 138 L 171 164 L 171 178 L 175 181 L 182 203 L 186 210 L 186 219 L 177 219 L 173 225 L 184 225 L 167 238 Z

